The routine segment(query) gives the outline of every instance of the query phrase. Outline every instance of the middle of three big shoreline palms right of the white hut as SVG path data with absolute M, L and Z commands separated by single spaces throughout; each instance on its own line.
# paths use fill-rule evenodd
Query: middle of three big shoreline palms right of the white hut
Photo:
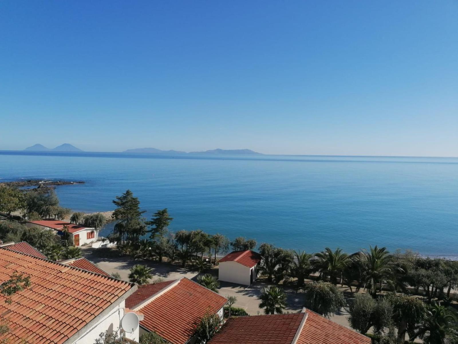
M 343 253 L 339 248 L 332 251 L 327 247 L 324 251 L 317 253 L 315 257 L 315 265 L 321 277 L 329 277 L 334 284 L 337 284 L 337 278 L 339 277 L 342 284 L 342 272 L 349 263 L 349 255 Z

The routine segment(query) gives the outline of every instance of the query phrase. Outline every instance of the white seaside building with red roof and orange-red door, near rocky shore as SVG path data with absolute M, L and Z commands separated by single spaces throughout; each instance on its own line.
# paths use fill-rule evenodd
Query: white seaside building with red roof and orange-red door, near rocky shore
M 70 241 L 75 246 L 90 244 L 97 241 L 98 239 L 98 230 L 91 227 L 84 227 L 60 220 L 40 220 L 27 222 L 27 227 L 43 227 L 46 229 L 55 230 L 56 233 L 60 236 L 64 234 L 64 226 L 67 227 L 68 233 L 70 234 Z

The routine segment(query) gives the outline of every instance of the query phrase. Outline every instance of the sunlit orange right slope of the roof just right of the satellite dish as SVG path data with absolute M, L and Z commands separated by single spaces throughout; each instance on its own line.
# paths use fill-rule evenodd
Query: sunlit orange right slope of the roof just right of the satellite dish
M 202 316 L 207 311 L 216 313 L 227 302 L 225 297 L 187 278 L 170 283 L 165 290 L 141 308 L 133 309 L 144 315 L 140 326 L 155 331 L 172 344 L 185 344 L 194 335 L 194 325 Z

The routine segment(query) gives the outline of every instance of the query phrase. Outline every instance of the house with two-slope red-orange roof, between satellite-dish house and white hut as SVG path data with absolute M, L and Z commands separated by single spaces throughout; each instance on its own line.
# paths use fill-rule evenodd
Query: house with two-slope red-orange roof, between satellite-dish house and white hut
M 207 313 L 223 318 L 228 300 L 187 278 L 139 285 L 125 306 L 143 315 L 140 335 L 156 332 L 171 344 L 192 343 L 195 326 Z

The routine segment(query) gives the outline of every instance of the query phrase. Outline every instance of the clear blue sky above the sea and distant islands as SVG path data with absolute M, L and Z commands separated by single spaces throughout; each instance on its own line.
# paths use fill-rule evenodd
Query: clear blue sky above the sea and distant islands
M 0 149 L 458 156 L 458 1 L 0 2 Z

